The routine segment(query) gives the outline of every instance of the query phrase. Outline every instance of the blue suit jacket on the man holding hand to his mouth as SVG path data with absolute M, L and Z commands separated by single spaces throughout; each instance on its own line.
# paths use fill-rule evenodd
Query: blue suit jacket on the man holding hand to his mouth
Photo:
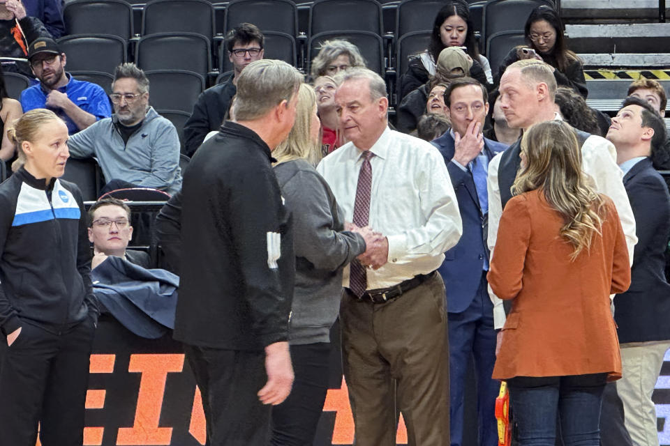
M 461 313 L 475 298 L 482 280 L 484 256 L 489 256 L 486 245 L 486 235 L 489 232 L 488 215 L 483 215 L 479 207 L 475 180 L 470 171 L 463 171 L 451 162 L 454 157 L 454 138 L 450 132 L 433 140 L 431 144 L 445 158 L 463 221 L 463 235 L 459 243 L 445 252 L 445 261 L 438 270 L 447 288 L 447 311 Z M 505 144 L 484 138 L 484 153 L 489 157 L 489 162 L 506 148 Z

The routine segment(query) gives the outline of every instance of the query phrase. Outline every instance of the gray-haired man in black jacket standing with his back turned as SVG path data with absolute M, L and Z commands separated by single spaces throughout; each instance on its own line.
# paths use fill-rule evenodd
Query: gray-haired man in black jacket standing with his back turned
M 174 338 L 184 342 L 202 392 L 212 446 L 267 445 L 269 405 L 288 397 L 292 385 L 295 255 L 271 150 L 292 128 L 301 82 L 285 62 L 245 68 L 237 122 L 226 122 L 198 150 L 159 223 L 163 235 L 165 222 L 172 222 L 168 233 L 181 232 Z

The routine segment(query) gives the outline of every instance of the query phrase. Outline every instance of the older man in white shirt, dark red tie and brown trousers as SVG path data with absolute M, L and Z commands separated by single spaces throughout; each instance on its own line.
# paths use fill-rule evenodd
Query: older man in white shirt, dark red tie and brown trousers
M 343 279 L 356 444 L 395 444 L 397 406 L 410 445 L 448 446 L 445 287 L 435 270 L 462 233 L 449 173 L 431 144 L 388 128 L 386 86 L 374 72 L 348 70 L 335 101 L 350 142 L 317 169 L 354 229 L 380 233 Z

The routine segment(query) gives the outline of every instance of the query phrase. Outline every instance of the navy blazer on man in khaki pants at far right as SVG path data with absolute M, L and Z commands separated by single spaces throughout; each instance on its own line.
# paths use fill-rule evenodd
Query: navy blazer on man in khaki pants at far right
M 614 298 L 619 342 L 670 339 L 670 285 L 665 252 L 670 239 L 670 194 L 650 158 L 623 177 L 636 223 L 630 288 Z

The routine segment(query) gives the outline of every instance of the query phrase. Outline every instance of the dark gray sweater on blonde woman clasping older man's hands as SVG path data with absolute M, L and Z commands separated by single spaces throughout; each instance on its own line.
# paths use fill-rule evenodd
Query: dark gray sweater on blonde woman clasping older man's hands
M 329 342 L 342 295 L 342 270 L 365 251 L 357 233 L 343 231 L 333 192 L 306 160 L 274 167 L 285 206 L 292 213 L 295 291 L 290 344 Z

